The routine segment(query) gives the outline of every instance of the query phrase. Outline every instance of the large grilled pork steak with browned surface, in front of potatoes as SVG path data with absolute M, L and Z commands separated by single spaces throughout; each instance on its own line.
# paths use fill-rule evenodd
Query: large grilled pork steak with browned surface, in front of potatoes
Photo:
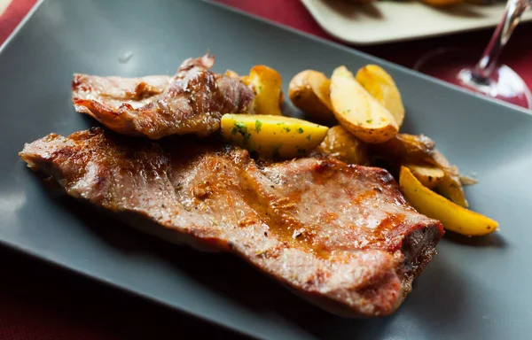
M 72 197 L 173 242 L 231 251 L 344 316 L 393 313 L 442 236 L 386 170 L 333 158 L 261 166 L 241 149 L 166 142 L 96 128 L 48 135 L 20 156 Z

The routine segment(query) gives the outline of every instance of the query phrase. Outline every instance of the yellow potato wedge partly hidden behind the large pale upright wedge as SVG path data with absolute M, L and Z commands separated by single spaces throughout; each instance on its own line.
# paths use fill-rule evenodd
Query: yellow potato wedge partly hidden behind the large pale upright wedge
M 392 76 L 380 66 L 366 65 L 356 73 L 356 81 L 392 113 L 397 126 L 401 128 L 404 120 L 403 100 Z

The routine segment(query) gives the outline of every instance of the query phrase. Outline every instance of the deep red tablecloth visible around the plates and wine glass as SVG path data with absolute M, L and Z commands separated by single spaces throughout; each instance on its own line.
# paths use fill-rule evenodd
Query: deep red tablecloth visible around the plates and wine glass
M 216 0 L 265 19 L 334 41 L 299 0 Z M 36 0 L 0 0 L 0 44 Z M 501 62 L 532 87 L 532 25 L 517 27 Z M 367 53 L 411 67 L 430 50 L 468 47 L 482 50 L 491 30 L 411 42 L 361 47 Z M 0 248 L 0 339 L 144 339 L 193 334 L 238 339 L 239 335 L 154 305 L 141 298 L 66 273 L 38 260 Z M 186 333 L 184 333 L 186 332 Z M 190 333 L 189 333 L 190 332 Z

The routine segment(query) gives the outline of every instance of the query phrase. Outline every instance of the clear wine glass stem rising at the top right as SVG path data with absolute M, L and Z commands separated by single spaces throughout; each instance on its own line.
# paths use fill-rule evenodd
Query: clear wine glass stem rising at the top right
M 477 81 L 488 81 L 489 76 L 497 65 L 506 42 L 510 39 L 513 29 L 519 24 L 520 16 L 530 6 L 529 0 L 508 0 L 505 14 L 498 24 L 486 50 L 482 53 L 479 62 L 473 68 L 473 78 Z

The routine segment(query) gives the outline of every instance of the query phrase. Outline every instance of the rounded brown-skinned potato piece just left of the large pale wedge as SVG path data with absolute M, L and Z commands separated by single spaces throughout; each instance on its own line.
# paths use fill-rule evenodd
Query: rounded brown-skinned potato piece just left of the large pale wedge
M 288 85 L 288 97 L 292 103 L 314 120 L 334 119 L 330 92 L 329 78 L 314 70 L 297 73 Z

